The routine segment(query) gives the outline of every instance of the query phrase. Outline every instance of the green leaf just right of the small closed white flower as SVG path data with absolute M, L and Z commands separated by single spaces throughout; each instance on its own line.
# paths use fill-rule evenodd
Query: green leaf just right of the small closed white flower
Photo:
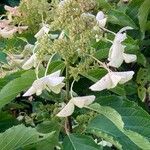
M 108 21 L 113 24 L 118 24 L 121 26 L 130 26 L 133 27 L 134 29 L 137 28 L 134 21 L 128 15 L 117 10 L 110 10 L 108 12 Z

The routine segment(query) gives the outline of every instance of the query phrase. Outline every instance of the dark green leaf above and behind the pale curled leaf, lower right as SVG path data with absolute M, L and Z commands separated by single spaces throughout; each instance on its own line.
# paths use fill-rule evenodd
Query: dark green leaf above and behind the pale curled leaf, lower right
M 102 106 L 114 108 L 122 117 L 125 129 L 135 131 L 150 139 L 150 115 L 135 102 L 118 96 L 100 96 L 96 100 Z

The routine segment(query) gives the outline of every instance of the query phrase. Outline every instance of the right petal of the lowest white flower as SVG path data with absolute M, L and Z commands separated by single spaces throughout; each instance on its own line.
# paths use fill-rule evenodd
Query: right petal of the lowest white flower
M 95 100 L 95 96 L 73 97 L 71 101 L 79 108 L 90 105 Z

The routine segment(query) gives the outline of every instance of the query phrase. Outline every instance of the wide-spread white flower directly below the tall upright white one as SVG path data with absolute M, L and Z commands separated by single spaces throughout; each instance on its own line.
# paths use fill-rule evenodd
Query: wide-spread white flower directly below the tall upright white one
M 133 71 L 126 72 L 109 72 L 99 81 L 93 84 L 90 89 L 92 91 L 102 91 L 104 89 L 111 89 L 117 86 L 117 84 L 124 84 L 132 79 L 134 75 Z

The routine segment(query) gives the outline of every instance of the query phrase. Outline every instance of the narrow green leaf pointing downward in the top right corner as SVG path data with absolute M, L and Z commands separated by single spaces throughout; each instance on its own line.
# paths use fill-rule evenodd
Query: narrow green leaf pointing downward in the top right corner
M 140 29 L 143 35 L 145 34 L 147 18 L 150 12 L 150 0 L 145 0 L 139 8 L 138 19 L 140 24 Z

